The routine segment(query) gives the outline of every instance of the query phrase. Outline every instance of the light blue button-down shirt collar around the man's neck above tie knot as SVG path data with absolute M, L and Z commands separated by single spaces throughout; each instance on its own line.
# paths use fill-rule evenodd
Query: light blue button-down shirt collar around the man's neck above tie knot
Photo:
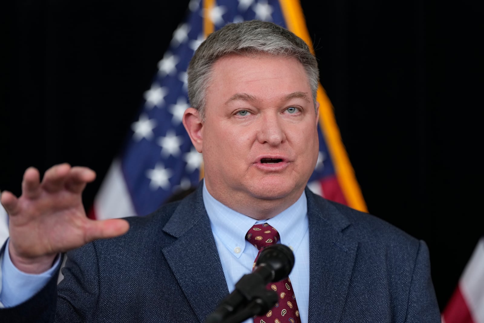
M 205 181 L 203 182 L 203 203 L 210 219 L 213 234 L 237 258 L 244 251 L 245 234 L 254 224 L 269 223 L 279 232 L 280 243 L 291 247 L 293 250 L 297 250 L 302 237 L 308 230 L 307 200 L 304 192 L 294 204 L 268 220 L 257 221 L 215 200 L 207 190 Z M 238 252 L 235 250 L 238 250 Z

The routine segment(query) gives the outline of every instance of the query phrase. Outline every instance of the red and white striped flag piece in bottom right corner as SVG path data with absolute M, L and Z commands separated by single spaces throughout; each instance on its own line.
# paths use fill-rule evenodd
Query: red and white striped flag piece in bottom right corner
M 479 240 L 442 313 L 442 323 L 484 323 L 484 238 Z

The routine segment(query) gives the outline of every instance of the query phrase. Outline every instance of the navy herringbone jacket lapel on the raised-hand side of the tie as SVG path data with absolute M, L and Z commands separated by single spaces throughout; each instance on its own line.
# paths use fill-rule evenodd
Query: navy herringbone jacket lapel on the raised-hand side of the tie
M 176 238 L 163 248 L 166 261 L 198 320 L 204 322 L 228 295 L 228 288 L 203 204 L 201 185 L 196 194 L 180 203 L 163 231 Z

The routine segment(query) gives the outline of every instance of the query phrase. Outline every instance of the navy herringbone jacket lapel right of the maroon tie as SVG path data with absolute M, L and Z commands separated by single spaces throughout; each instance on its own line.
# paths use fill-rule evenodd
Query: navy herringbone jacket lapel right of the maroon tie
M 339 322 L 358 243 L 344 229 L 347 218 L 306 189 L 309 218 L 309 322 Z

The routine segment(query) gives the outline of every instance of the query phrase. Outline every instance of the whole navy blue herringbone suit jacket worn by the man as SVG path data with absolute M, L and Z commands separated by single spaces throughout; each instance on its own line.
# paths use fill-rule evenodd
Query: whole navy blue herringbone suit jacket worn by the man
M 306 189 L 309 322 L 439 323 L 422 241 Z M 180 202 L 132 217 L 121 237 L 68 253 L 29 301 L 0 322 L 204 322 L 228 295 L 201 185 Z M 296 260 L 297 261 L 297 260 Z

